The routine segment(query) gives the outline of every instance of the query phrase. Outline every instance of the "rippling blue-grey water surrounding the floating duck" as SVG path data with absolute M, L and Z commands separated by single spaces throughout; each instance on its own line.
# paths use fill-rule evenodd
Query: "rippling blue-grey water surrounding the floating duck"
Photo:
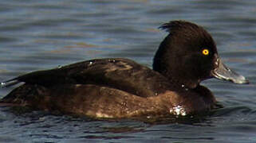
M 0 142 L 256 142 L 255 6 L 255 0 L 1 1 L 0 81 L 103 57 L 151 66 L 167 35 L 157 27 L 183 19 L 203 25 L 224 63 L 250 85 L 203 82 L 224 107 L 184 121 L 97 121 L 0 108 Z M 12 89 L 1 89 L 0 97 Z

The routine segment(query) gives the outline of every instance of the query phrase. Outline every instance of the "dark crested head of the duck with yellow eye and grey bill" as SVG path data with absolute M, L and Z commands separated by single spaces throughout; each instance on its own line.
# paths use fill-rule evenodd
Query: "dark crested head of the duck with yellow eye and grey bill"
M 220 60 L 215 41 L 203 27 L 188 21 L 170 21 L 160 26 L 169 34 L 160 44 L 153 69 L 188 88 L 204 79 L 217 78 L 233 83 L 248 80 L 227 68 Z

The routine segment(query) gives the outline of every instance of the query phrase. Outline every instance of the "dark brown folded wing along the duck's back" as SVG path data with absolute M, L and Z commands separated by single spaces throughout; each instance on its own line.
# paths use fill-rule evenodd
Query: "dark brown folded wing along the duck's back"
M 87 60 L 45 71 L 30 72 L 7 80 L 3 87 L 16 83 L 53 87 L 60 84 L 96 84 L 150 97 L 166 91 L 169 83 L 152 69 L 123 58 Z

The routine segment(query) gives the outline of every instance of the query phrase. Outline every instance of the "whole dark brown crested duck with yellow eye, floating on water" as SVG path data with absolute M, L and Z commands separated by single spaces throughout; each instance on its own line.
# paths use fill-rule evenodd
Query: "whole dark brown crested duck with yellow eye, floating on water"
M 190 21 L 160 25 L 160 43 L 152 68 L 126 58 L 85 60 L 30 72 L 2 82 L 20 83 L 1 104 L 93 118 L 187 116 L 215 108 L 212 92 L 200 83 L 216 78 L 249 83 L 219 57 L 211 34 Z

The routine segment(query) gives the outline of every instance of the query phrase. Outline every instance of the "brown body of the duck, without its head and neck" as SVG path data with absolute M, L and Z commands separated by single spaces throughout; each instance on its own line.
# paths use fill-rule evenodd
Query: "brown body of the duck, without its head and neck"
M 159 72 L 123 58 L 83 61 L 14 80 L 25 84 L 2 102 L 97 118 L 170 114 L 176 106 L 189 114 L 209 110 L 215 103 L 206 87 L 191 91 L 175 86 Z

